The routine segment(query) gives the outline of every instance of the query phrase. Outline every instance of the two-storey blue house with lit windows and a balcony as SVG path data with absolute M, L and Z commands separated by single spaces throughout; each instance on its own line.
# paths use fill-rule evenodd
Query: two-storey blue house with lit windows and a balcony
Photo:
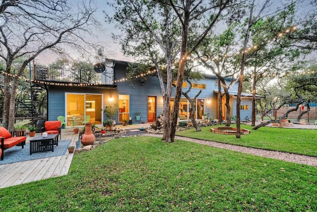
M 145 121 L 151 123 L 162 114 L 163 98 L 160 92 L 159 79 L 151 74 L 136 78 L 134 83 L 126 80 L 127 62 L 112 61 L 106 64 L 106 71 L 82 71 L 35 66 L 33 83 L 44 87 L 48 92 L 48 120 L 56 120 L 65 116 L 67 126 L 82 125 L 85 116 L 90 116 L 90 122 L 102 124 L 107 119 L 105 107 L 118 104 L 118 111 L 113 119 L 117 124 L 122 120 L 132 120 L 132 123 Z M 183 83 L 187 90 L 188 83 Z M 236 115 L 236 99 L 238 83 L 230 90 L 231 116 Z M 199 90 L 202 93 L 195 103 L 195 118 L 201 119 L 204 113 L 218 118 L 217 77 L 205 74 L 205 79 L 193 83 L 189 93 L 194 97 Z M 172 92 L 172 97 L 173 97 Z M 251 117 L 251 94 L 243 94 L 241 99 L 241 119 Z M 223 111 L 225 113 L 225 97 Z M 171 99 L 171 107 L 173 98 Z M 180 119 L 188 119 L 190 104 L 185 97 L 181 98 Z M 140 121 L 136 120 L 136 112 L 141 112 Z M 223 113 L 223 114 L 224 114 Z

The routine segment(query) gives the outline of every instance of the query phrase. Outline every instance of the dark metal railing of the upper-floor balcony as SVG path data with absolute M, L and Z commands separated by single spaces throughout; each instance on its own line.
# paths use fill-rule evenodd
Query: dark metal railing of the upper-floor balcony
M 35 65 L 34 79 L 48 82 L 92 83 L 114 85 L 113 68 L 102 73 L 94 70 L 75 70 Z

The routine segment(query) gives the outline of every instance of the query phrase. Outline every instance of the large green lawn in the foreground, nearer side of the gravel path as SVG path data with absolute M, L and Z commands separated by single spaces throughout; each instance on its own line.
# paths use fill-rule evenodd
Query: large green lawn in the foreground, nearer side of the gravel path
M 67 176 L 1 189 L 0 211 L 313 212 L 316 183 L 313 166 L 132 137 L 75 154 Z

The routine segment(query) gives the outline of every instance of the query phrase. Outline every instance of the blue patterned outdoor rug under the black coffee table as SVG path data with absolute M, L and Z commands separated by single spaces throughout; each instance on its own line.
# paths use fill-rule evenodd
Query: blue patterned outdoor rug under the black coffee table
M 69 146 L 71 140 L 61 140 L 58 141 L 58 146 L 54 145 L 54 151 L 45 151 L 45 152 L 38 152 L 38 153 L 32 153 L 30 155 L 30 143 L 26 143 L 24 145 L 24 148 L 22 146 L 13 146 L 11 148 L 5 149 L 4 152 L 4 158 L 3 160 L 0 160 L 1 164 L 6 163 L 15 163 L 20 161 L 26 161 L 26 160 L 35 160 L 45 157 L 56 157 L 60 155 L 64 155 L 67 151 L 67 147 Z

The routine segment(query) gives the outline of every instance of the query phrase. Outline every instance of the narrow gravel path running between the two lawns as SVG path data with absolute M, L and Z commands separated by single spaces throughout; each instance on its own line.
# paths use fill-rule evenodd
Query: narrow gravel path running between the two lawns
M 152 137 L 160 137 L 160 138 L 163 136 L 161 134 L 143 134 L 143 135 L 152 136 Z M 317 157 L 312 157 L 312 156 L 305 156 L 305 155 L 286 153 L 286 152 L 280 152 L 280 151 L 264 150 L 264 149 L 258 149 L 258 148 L 252 148 L 252 147 L 244 147 L 244 146 L 238 146 L 238 145 L 232 145 L 232 144 L 226 144 L 226 143 L 220 143 L 220 142 L 214 142 L 214 141 L 192 139 L 192 138 L 181 137 L 181 136 L 175 136 L 175 139 L 191 141 L 195 143 L 209 145 L 216 148 L 224 148 L 224 149 L 243 152 L 247 154 L 253 154 L 257 156 L 274 158 L 278 160 L 285 160 L 288 162 L 306 164 L 306 165 L 317 167 Z

